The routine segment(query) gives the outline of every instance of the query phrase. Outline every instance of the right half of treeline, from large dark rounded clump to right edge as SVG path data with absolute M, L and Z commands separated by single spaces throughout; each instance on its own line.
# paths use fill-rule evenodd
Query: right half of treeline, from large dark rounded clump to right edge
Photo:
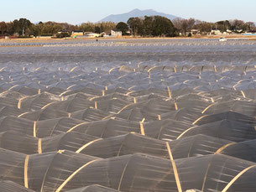
M 206 35 L 212 30 L 219 30 L 220 33 L 228 32 L 233 34 L 241 34 L 244 32 L 256 32 L 255 23 L 244 22 L 242 20 L 224 20 L 216 23 L 196 20 L 195 18 L 182 19 L 175 18 L 170 21 L 168 18 L 154 16 L 144 18 L 129 18 L 128 29 L 134 36 L 161 36 L 174 37 L 179 35 L 191 35 L 192 30 L 196 34 Z

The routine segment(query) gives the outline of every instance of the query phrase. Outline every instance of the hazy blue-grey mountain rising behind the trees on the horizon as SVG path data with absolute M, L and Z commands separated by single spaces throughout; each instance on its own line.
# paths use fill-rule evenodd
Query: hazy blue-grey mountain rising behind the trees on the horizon
M 169 18 L 170 20 L 173 20 L 174 18 L 178 18 L 175 15 L 166 14 L 166 13 L 159 13 L 157 11 L 154 11 L 153 9 L 147 9 L 147 10 L 139 10 L 138 8 L 134 9 L 131 12 L 123 13 L 123 14 L 112 14 L 107 16 L 107 18 L 103 18 L 99 22 L 124 22 L 127 23 L 129 18 L 135 18 L 135 17 L 144 17 L 144 16 L 154 16 L 159 15 L 165 18 Z

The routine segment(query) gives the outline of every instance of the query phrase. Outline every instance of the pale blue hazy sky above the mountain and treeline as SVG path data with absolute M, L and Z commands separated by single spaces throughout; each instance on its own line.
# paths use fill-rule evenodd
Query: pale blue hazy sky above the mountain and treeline
M 256 22 L 256 0 L 0 0 L 0 21 L 29 18 L 32 22 L 72 24 L 97 22 L 134 8 L 154 9 L 181 18 L 215 22 L 238 18 Z

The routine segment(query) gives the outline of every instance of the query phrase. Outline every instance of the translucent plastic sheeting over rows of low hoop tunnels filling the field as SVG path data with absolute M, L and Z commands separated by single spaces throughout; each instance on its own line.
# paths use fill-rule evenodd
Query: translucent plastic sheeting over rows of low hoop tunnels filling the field
M 255 191 L 253 42 L 43 45 L 0 50 L 1 191 Z

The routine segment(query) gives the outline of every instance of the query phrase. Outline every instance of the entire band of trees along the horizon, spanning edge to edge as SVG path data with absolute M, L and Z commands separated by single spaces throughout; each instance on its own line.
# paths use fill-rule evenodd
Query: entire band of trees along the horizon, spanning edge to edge
M 197 34 L 209 34 L 212 30 L 220 30 L 221 33 L 232 31 L 232 33 L 256 32 L 255 23 L 244 22 L 242 20 L 224 20 L 216 23 L 209 23 L 195 18 L 170 19 L 161 16 L 145 16 L 144 18 L 129 18 L 127 23 L 81 23 L 72 25 L 69 23 L 39 22 L 31 23 L 27 18 L 15 19 L 11 22 L 0 22 L 0 36 L 53 36 L 60 37 L 71 35 L 72 31 L 83 31 L 91 33 L 110 34 L 112 29 L 123 32 L 123 35 L 133 35 L 141 37 L 174 37 L 178 35 L 191 34 L 191 30 L 196 30 Z M 60 35 L 61 33 L 61 35 Z

